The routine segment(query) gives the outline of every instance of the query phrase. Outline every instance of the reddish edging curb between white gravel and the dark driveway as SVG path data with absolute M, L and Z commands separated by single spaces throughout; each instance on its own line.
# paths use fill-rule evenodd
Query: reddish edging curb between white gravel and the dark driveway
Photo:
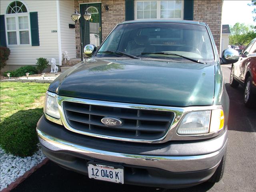
M 26 178 L 28 178 L 32 173 L 34 173 L 37 169 L 42 167 L 48 162 L 48 158 L 45 158 L 40 162 L 38 165 L 32 167 L 30 170 L 28 170 L 24 175 L 17 178 L 14 182 L 12 182 L 8 187 L 4 188 L 1 192 L 10 192 L 14 188 L 16 188 L 19 184 L 21 184 Z

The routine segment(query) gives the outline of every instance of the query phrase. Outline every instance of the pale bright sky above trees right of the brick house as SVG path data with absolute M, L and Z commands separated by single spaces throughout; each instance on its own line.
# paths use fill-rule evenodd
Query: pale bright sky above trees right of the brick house
M 236 22 L 247 25 L 256 25 L 253 22 L 253 6 L 248 6 L 252 1 L 246 0 L 224 0 L 222 7 L 222 24 L 233 26 Z

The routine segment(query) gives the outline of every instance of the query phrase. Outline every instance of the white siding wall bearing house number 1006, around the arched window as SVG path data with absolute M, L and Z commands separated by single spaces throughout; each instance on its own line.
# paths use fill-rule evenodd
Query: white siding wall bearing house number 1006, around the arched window
M 13 1 L 0 1 L 1 15 L 6 15 L 7 17 L 12 15 L 6 14 L 6 9 L 11 2 Z M 30 44 L 26 45 L 8 45 L 8 48 L 10 49 L 10 56 L 9 59 L 7 60 L 7 65 L 35 65 L 36 58 L 40 57 L 47 58 L 49 62 L 51 58 L 55 58 L 56 63 L 58 65 L 58 34 L 52 32 L 52 30 L 57 30 L 56 1 L 23 0 L 21 2 L 26 4 L 26 7 L 28 8 L 28 13 L 38 12 L 38 30 L 40 46 L 31 46 L 31 40 Z M 28 22 L 28 26 L 30 27 L 29 17 Z M 27 37 L 26 34 L 24 34 L 24 36 L 24 38 Z M 29 35 L 29 38 L 30 37 L 31 35 Z M 18 41 L 20 40 L 18 39 Z

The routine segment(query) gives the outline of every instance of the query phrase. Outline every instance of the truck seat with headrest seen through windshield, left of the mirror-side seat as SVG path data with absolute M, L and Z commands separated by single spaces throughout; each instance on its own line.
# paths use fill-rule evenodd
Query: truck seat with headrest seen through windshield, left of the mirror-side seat
M 156 52 L 156 48 L 149 44 L 148 36 L 145 35 L 136 36 L 126 46 L 126 53 L 128 54 L 138 55 L 142 52 Z

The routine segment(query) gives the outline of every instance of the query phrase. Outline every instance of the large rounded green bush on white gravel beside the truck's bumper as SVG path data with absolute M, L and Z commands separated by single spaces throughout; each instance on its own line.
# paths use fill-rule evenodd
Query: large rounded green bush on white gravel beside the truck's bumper
M 42 108 L 20 110 L 0 124 L 0 145 L 6 152 L 20 157 L 32 156 L 38 150 L 36 123 Z

